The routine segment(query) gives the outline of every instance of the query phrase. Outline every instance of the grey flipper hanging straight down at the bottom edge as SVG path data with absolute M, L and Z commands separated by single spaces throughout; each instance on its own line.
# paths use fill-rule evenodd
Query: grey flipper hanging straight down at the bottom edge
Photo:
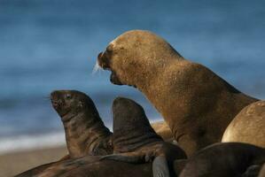
M 165 156 L 154 158 L 152 162 L 153 177 L 170 177 L 168 161 Z

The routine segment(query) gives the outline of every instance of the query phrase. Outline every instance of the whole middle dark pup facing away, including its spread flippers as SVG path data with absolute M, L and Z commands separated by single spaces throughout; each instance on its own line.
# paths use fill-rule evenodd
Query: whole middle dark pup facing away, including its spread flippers
M 152 129 L 144 109 L 133 100 L 118 97 L 113 101 L 113 159 L 129 163 L 152 162 L 153 176 L 172 176 L 175 159 L 186 158 L 178 146 L 164 142 Z

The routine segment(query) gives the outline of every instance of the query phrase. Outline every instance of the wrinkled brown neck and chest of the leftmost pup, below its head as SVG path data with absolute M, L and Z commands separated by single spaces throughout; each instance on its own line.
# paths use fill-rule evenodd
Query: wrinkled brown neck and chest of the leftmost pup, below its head
M 97 141 L 105 141 L 106 144 L 110 142 L 112 133 L 105 127 L 96 111 L 91 113 L 83 110 L 63 123 L 67 149 L 72 158 L 85 156 L 88 151 L 92 153 L 94 146 L 97 148 Z

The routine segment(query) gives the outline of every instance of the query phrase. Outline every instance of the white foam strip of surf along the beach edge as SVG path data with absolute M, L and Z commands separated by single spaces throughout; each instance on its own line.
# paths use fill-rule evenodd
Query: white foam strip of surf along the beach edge
M 65 133 L 18 135 L 0 139 L 0 154 L 12 151 L 58 147 L 66 144 Z

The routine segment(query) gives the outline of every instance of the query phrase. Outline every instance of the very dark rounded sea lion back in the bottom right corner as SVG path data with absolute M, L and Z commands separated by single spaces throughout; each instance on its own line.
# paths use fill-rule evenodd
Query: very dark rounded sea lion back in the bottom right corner
M 264 162 L 263 148 L 241 142 L 215 143 L 189 158 L 180 177 L 258 176 Z

